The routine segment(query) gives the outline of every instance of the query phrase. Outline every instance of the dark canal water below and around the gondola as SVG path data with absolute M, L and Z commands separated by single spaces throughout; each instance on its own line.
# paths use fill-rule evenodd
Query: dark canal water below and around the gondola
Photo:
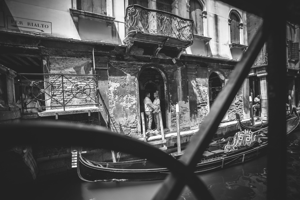
M 214 199 L 266 199 L 267 190 L 266 156 L 243 165 L 217 172 L 199 175 Z M 35 194 L 36 199 L 55 200 L 140 200 L 152 199 L 163 181 L 143 182 L 85 182 L 76 174 L 59 181 L 41 182 Z M 300 131 L 287 138 L 287 200 L 300 199 Z M 11 196 L 13 197 L 13 196 Z M 193 200 L 193 192 L 185 187 L 178 200 Z

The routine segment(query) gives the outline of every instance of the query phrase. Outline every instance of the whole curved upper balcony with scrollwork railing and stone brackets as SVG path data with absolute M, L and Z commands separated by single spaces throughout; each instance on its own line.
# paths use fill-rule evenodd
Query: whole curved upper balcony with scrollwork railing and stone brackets
M 154 55 L 163 47 L 177 50 L 179 55 L 193 43 L 193 20 L 172 13 L 130 5 L 125 15 L 126 52 L 134 43 L 156 46 Z

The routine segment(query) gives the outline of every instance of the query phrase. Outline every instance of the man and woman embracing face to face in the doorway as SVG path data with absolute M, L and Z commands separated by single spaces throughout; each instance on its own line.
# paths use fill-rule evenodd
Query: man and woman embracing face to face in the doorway
M 146 92 L 146 97 L 144 99 L 144 108 L 145 108 L 145 114 L 146 114 L 146 118 L 147 118 L 146 133 L 155 133 L 155 130 L 160 131 L 159 111 L 161 111 L 161 108 L 160 108 L 161 101 L 159 100 L 158 91 L 156 91 L 153 95 L 155 98 L 153 103 L 150 100 L 149 92 Z M 154 111 L 153 111 L 153 109 L 154 109 Z M 154 130 L 151 129 L 152 113 L 154 114 L 154 121 L 155 121 L 155 129 Z

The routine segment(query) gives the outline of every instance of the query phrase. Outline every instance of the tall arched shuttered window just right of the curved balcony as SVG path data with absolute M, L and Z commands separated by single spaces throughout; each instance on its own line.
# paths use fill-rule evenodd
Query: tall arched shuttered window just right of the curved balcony
M 198 0 L 190 0 L 190 19 L 193 19 L 194 34 L 203 35 L 203 8 Z

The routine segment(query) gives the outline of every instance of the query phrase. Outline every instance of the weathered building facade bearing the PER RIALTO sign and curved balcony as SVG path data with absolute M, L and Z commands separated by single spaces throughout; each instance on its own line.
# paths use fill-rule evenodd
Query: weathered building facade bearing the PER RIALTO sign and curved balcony
M 88 118 L 141 139 L 145 93 L 153 101 L 158 91 L 165 132 L 176 132 L 178 103 L 180 130 L 191 131 L 182 133 L 189 141 L 247 48 L 246 12 L 214 0 L 106 0 L 94 10 L 81 2 L 0 0 L 0 63 L 18 74 L 39 74 L 24 84 L 41 82 L 46 91 L 43 112 L 32 120 Z M 134 19 L 134 9 L 173 21 L 142 20 L 142 12 Z M 187 25 L 179 27 L 176 20 Z M 175 27 L 174 33 L 166 27 Z M 15 102 L 21 93 L 15 90 Z M 250 117 L 249 94 L 246 80 L 222 126 L 236 120 L 235 112 Z M 67 147 L 57 152 L 70 156 Z M 35 156 L 38 165 L 50 159 L 42 150 Z

